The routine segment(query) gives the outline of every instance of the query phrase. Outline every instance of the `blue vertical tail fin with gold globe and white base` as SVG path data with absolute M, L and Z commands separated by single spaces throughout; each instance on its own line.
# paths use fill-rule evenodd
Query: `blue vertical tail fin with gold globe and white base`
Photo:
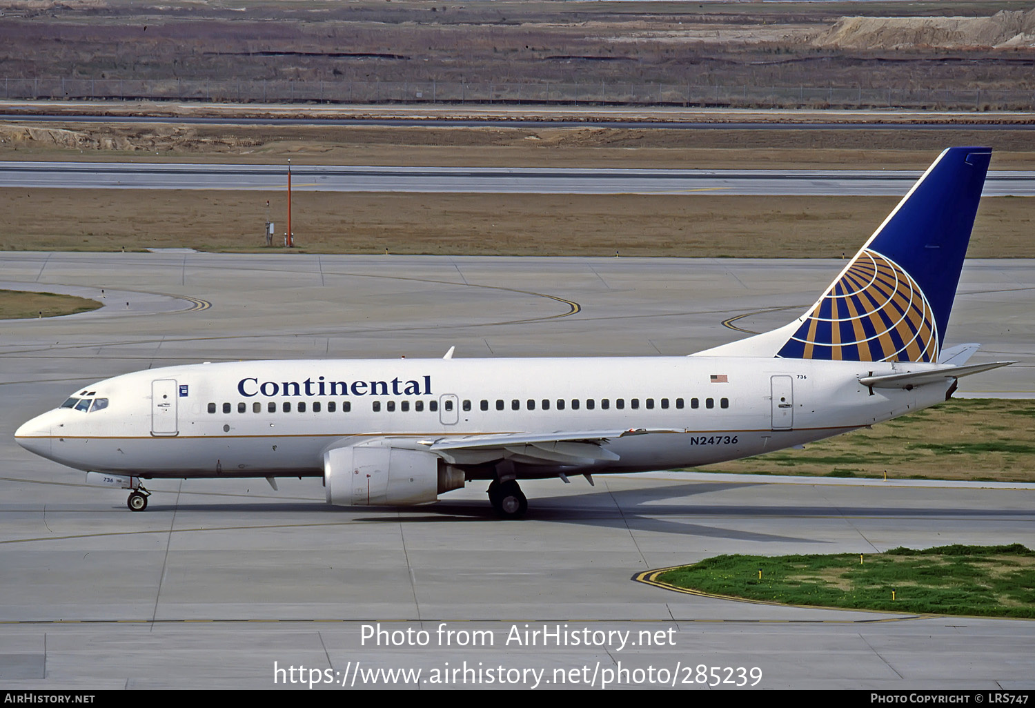
M 990 157 L 942 152 L 808 312 L 701 354 L 938 361 Z

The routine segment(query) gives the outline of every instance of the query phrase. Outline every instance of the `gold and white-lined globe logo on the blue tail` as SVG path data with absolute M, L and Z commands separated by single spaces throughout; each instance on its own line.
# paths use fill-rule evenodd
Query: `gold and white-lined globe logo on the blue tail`
M 935 314 L 894 261 L 864 249 L 777 356 L 851 361 L 937 361 Z

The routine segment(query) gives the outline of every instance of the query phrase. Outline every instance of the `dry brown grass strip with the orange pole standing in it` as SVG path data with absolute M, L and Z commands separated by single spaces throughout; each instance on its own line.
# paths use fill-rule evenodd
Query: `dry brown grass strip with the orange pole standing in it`
M 270 207 L 266 207 L 269 200 Z M 296 191 L 295 253 L 851 256 L 898 197 Z M 286 190 L 0 188 L 0 250 L 283 253 Z M 1035 199 L 983 200 L 970 258 L 1035 257 Z

